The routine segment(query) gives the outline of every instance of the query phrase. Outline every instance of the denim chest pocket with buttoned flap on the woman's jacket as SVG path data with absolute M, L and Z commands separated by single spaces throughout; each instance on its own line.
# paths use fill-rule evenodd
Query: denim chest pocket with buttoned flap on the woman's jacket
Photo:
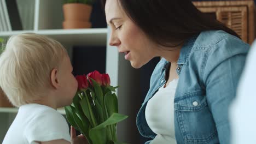
M 216 125 L 202 91 L 175 99 L 174 111 L 179 125 L 176 128 L 179 128 L 184 143 L 218 143 Z

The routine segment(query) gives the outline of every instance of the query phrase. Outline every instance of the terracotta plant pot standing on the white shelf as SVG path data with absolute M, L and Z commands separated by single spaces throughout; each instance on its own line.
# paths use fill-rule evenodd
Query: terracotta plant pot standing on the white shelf
M 94 0 L 65 0 L 63 4 L 63 28 L 90 28 L 93 3 Z

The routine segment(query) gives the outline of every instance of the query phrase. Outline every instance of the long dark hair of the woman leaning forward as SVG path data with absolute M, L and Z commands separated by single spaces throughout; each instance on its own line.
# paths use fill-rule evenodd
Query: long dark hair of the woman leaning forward
M 104 8 L 107 0 L 102 0 Z M 109 0 L 108 0 L 109 1 Z M 173 47 L 202 31 L 236 32 L 198 10 L 191 0 L 117 0 L 125 13 L 149 39 Z

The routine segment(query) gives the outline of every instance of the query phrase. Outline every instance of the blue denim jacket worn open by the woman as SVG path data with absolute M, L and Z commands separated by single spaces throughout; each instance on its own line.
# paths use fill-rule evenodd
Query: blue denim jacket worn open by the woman
M 178 144 L 230 142 L 229 105 L 235 98 L 248 50 L 248 44 L 224 31 L 201 32 L 185 42 L 177 62 L 179 81 L 174 96 Z M 147 124 L 145 109 L 148 100 L 165 84 L 168 64 L 162 58 L 156 65 L 137 115 L 139 133 L 152 139 L 156 134 Z

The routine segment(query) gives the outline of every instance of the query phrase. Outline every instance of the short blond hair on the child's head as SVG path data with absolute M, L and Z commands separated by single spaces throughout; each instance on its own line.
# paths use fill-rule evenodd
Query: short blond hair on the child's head
M 43 35 L 13 35 L 0 56 L 0 87 L 14 106 L 32 103 L 50 88 L 51 70 L 66 55 L 58 41 Z

